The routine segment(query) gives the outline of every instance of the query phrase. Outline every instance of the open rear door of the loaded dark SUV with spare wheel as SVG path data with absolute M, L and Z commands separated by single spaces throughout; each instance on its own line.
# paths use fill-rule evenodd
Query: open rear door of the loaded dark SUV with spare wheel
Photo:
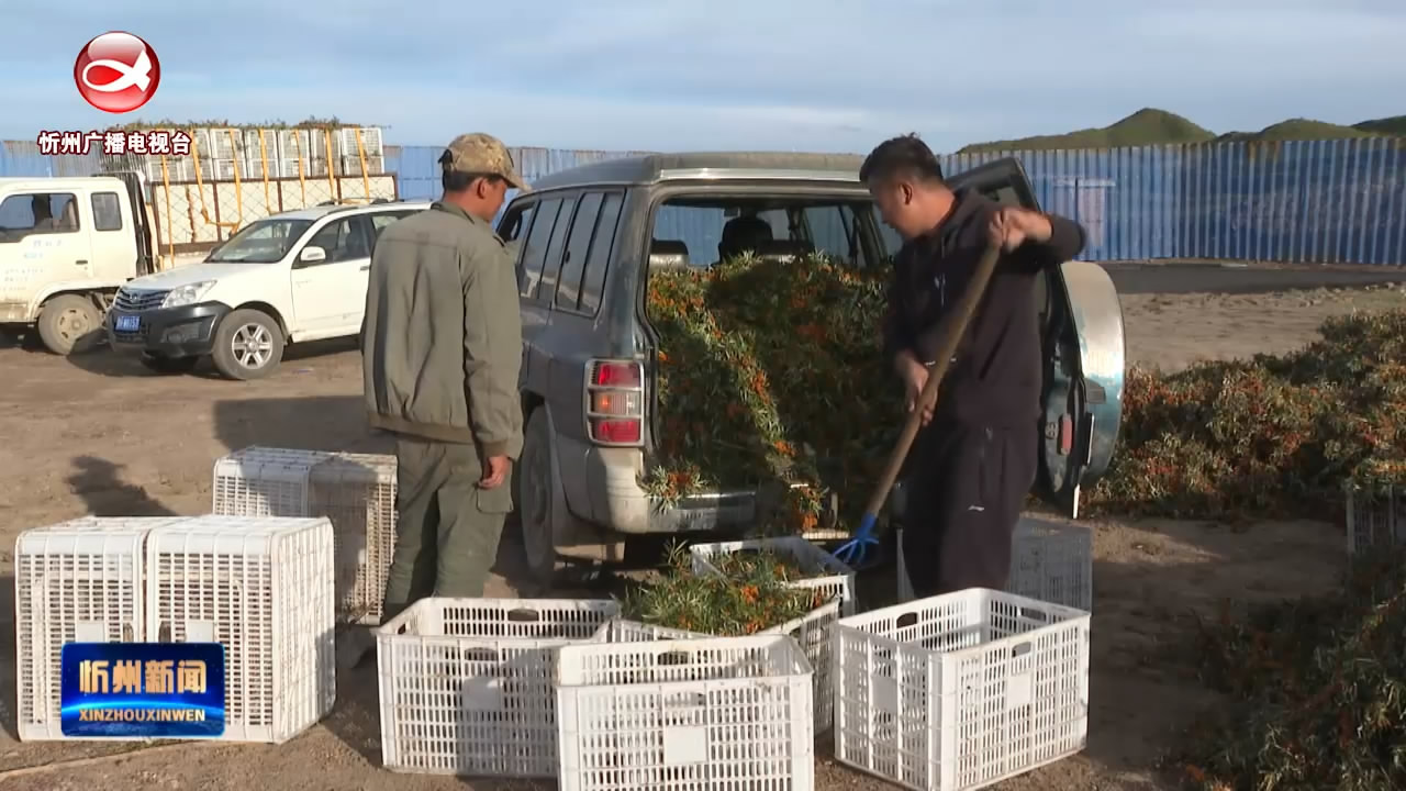
M 948 183 L 1001 204 L 1040 208 L 1017 159 L 973 167 Z M 1077 517 L 1080 490 L 1108 469 L 1122 419 L 1122 308 L 1108 273 L 1077 260 L 1045 270 L 1032 308 L 1039 311 L 1045 357 L 1035 491 Z

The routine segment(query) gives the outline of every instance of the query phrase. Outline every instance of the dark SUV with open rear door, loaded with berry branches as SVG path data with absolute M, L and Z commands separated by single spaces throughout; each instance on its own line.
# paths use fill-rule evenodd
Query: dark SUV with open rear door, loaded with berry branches
M 508 205 L 498 231 L 516 253 L 523 321 L 517 512 L 538 580 L 550 580 L 558 557 L 620 559 L 627 535 L 754 519 L 754 491 L 664 505 L 640 486 L 662 429 L 644 310 L 650 273 L 710 266 L 744 232 L 763 258 L 800 262 L 814 252 L 858 269 L 889 266 L 900 239 L 879 221 L 859 163 L 804 153 L 637 156 L 544 177 Z M 949 182 L 1036 205 L 1014 159 Z M 1031 310 L 1042 317 L 1047 360 L 1040 490 L 1073 514 L 1118 435 L 1122 310 L 1104 269 L 1084 262 L 1050 269 Z

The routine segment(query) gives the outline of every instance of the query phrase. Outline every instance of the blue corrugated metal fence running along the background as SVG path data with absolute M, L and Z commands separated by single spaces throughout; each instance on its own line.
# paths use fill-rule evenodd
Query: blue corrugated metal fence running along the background
M 439 146 L 388 151 L 401 196 L 439 194 Z M 527 180 L 627 152 L 516 148 Z M 1406 139 L 1204 144 L 949 155 L 957 173 L 1018 156 L 1040 204 L 1088 229 L 1084 258 L 1406 263 Z M 97 172 L 97 156 L 0 148 L 0 176 Z

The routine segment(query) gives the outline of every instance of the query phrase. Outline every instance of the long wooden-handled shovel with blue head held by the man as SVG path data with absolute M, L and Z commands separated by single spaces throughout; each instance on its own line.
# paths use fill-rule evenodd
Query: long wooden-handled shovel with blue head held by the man
M 976 272 L 972 273 L 972 281 L 962 291 L 962 298 L 957 300 L 956 310 L 948 314 L 943 322 L 945 327 L 939 335 L 938 360 L 928 372 L 928 381 L 922 386 L 922 393 L 918 394 L 912 411 L 908 412 L 907 422 L 903 424 L 903 434 L 898 435 L 898 442 L 894 443 L 893 452 L 889 455 L 889 464 L 883 469 L 883 474 L 879 476 L 879 483 L 875 486 L 875 491 L 869 497 L 869 504 L 865 507 L 865 515 L 859 519 L 859 529 L 855 531 L 853 538 L 835 550 L 835 559 L 852 569 L 863 566 L 869 555 L 869 548 L 879 543 L 879 539 L 873 535 L 875 524 L 879 521 L 879 511 L 889 500 L 889 490 L 898 480 L 898 472 L 903 470 L 903 462 L 908 457 L 912 439 L 918 436 L 918 429 L 922 426 L 922 407 L 925 404 L 936 404 L 938 383 L 946 376 L 952 356 L 957 350 L 957 343 L 966 335 L 967 324 L 972 322 L 972 315 L 976 312 L 976 305 L 986 296 L 986 286 L 991 281 L 991 273 L 995 272 L 995 262 L 1000 253 L 1000 245 L 990 245 L 981 253 L 981 259 L 977 260 Z

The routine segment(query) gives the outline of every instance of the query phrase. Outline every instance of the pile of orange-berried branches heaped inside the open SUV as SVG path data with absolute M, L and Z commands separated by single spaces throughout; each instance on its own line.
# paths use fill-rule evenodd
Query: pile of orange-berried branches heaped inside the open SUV
M 772 487 L 779 532 L 815 528 L 831 493 L 860 507 L 903 424 L 886 277 L 823 256 L 651 273 L 662 463 L 647 490 L 673 502 Z

